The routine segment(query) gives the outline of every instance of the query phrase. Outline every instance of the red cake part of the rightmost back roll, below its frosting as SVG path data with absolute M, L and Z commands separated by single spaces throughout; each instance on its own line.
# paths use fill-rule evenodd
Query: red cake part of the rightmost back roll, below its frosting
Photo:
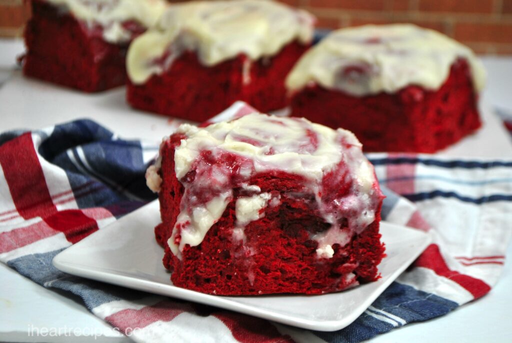
M 291 115 L 352 131 L 365 151 L 432 153 L 482 124 L 466 60 L 458 59 L 437 90 L 410 85 L 395 94 L 352 96 L 318 85 L 291 98 Z

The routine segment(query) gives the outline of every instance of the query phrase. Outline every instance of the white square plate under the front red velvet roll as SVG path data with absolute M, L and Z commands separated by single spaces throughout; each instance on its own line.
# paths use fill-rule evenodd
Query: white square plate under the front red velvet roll
M 217 306 L 305 329 L 343 329 L 364 312 L 430 243 L 429 234 L 381 222 L 387 256 L 376 282 L 323 295 L 216 296 L 173 286 L 154 237 L 155 200 L 62 251 L 58 269 L 84 278 Z M 305 306 L 307 304 L 307 306 Z

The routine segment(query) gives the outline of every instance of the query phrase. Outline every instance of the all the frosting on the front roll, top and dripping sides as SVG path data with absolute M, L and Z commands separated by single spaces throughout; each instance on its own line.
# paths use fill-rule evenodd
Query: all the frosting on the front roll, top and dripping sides
M 174 153 L 175 173 L 184 185 L 184 194 L 168 245 L 178 258 L 185 245 L 199 245 L 222 216 L 233 199 L 233 178 L 239 180 L 236 187 L 249 193 L 236 201 L 237 237 L 243 237 L 245 225 L 264 216 L 267 206 L 279 201 L 279 194 L 262 193 L 258 186 L 247 183 L 252 175 L 262 172 L 284 171 L 306 180 L 305 192 L 314 195 L 319 212 L 331 224 L 325 232 L 311 237 L 318 242 L 319 258 L 331 258 L 333 244 L 344 246 L 375 220 L 375 199 L 379 199 L 373 187 L 375 174 L 350 131 L 333 130 L 303 118 L 251 113 L 205 128 L 183 124 L 177 133 L 186 136 Z M 205 162 L 204 156 L 211 158 L 208 161 L 220 161 L 226 154 L 237 158 L 236 172 L 222 163 Z M 351 191 L 342 198 L 324 189 L 326 174 L 331 171 L 330 179 L 346 182 L 347 175 L 352 179 Z M 148 185 L 156 191 L 160 184 L 154 175 L 157 173 L 158 168 L 150 168 L 146 174 Z M 208 192 L 211 194 L 205 196 Z M 341 230 L 342 219 L 349 220 L 348 229 Z

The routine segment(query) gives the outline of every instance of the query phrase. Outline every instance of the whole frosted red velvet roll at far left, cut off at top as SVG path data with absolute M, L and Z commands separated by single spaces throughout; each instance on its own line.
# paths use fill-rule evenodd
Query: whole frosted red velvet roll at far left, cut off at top
M 165 0 L 30 0 L 26 76 L 98 92 L 126 82 L 130 42 L 156 24 Z

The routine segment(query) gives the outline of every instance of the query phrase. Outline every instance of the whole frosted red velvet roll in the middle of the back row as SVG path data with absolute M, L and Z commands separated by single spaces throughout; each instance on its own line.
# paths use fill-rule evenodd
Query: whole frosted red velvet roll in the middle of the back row
M 313 37 L 314 18 L 272 1 L 174 4 L 127 56 L 127 101 L 202 122 L 237 100 L 285 107 L 284 80 Z

